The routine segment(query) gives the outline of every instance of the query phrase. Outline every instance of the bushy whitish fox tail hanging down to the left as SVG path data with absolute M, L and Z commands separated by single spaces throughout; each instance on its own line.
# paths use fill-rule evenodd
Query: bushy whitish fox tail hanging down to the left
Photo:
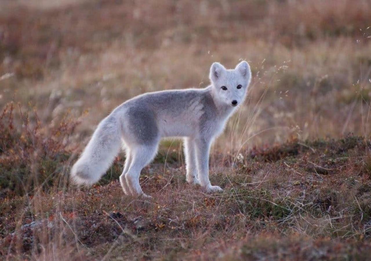
M 99 123 L 72 167 L 71 178 L 75 183 L 91 185 L 101 179 L 121 149 L 120 129 L 118 121 L 112 115 Z

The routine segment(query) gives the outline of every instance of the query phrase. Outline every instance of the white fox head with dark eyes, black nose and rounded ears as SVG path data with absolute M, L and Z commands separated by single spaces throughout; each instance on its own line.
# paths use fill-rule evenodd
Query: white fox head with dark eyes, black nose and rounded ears
M 219 62 L 214 62 L 210 68 L 210 81 L 215 96 L 229 106 L 242 104 L 250 79 L 250 66 L 246 61 L 240 62 L 234 69 L 226 69 Z

